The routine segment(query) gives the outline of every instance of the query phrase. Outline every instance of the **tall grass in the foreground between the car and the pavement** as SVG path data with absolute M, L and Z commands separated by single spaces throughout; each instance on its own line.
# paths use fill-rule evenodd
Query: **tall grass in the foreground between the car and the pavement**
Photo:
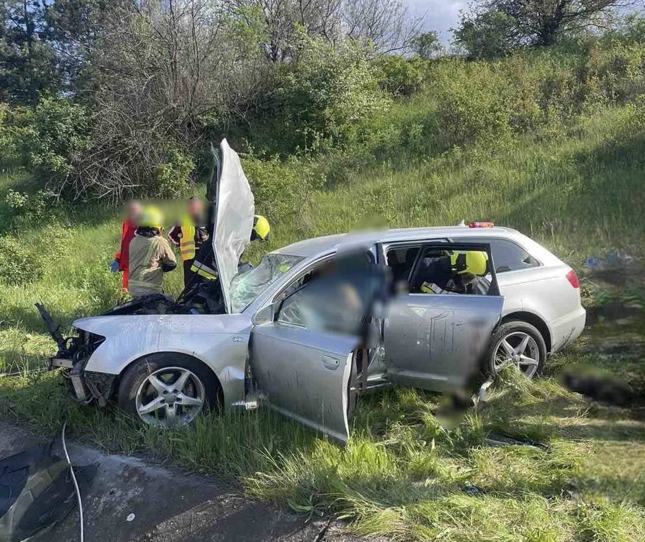
M 457 430 L 439 427 L 436 405 L 433 394 L 410 389 L 368 396 L 353 418 L 350 441 L 339 447 L 263 409 L 202 416 L 192 427 L 168 432 L 142 427 L 116 409 L 71 403 L 55 374 L 12 379 L 0 388 L 0 414 L 41 432 L 55 433 L 66 420 L 82 441 L 171 458 L 303 514 L 333 513 L 357 534 L 455 541 L 645 536 L 644 496 L 635 493 L 642 471 L 608 498 L 602 483 L 588 480 L 607 476 L 611 450 L 564 438 L 569 429 L 559 420 L 582 426 L 598 419 L 577 396 L 509 372 L 488 408 L 467 416 Z M 629 434 L 635 438 L 644 429 L 641 421 Z M 490 431 L 544 447 L 488 447 Z M 631 442 L 640 469 L 644 451 L 645 442 Z M 624 501 L 626 490 L 631 498 Z

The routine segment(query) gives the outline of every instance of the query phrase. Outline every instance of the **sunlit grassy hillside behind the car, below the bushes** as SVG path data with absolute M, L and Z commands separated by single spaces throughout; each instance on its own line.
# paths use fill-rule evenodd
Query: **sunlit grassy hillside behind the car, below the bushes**
M 399 104 L 383 115 L 382 124 L 409 122 L 419 115 L 422 101 Z M 539 240 L 578 269 L 585 256 L 610 249 L 642 255 L 645 136 L 631 130 L 633 116 L 632 108 L 606 110 L 583 119 L 575 135 L 551 142 L 524 135 L 499 147 L 453 148 L 426 157 L 410 157 L 409 149 L 392 148 L 392 157 L 381 160 L 376 155 L 371 166 L 348 164 L 346 155 L 339 154 L 313 166 L 295 162 L 273 171 L 258 168 L 256 158 L 243 157 L 253 184 L 259 184 L 263 173 L 297 179 L 301 166 L 331 172 L 325 186 L 309 188 L 301 196 L 297 212 L 284 211 L 273 222 L 269 246 L 252 250 L 348 231 L 380 217 L 391 227 L 494 220 Z M 394 162 L 397 154 L 401 157 Z M 0 178 L 0 201 L 9 189 L 29 186 L 24 175 L 5 174 Z M 260 197 L 257 206 L 272 212 Z M 117 209 L 95 202 L 48 208 L 32 221 L 14 218 L 19 220 L 14 234 L 8 233 L 11 214 L 5 204 L 5 238 L 16 237 L 26 252 L 34 253 L 39 269 L 34 281 L 13 286 L 7 266 L 11 255 L 0 256 L 5 258 L 0 271 L 7 269 L 0 291 L 1 321 L 40 332 L 35 302 L 44 302 L 56 318 L 69 323 L 118 301 L 120 278 L 107 270 L 119 242 Z M 171 293 L 181 289 L 179 275 L 180 271 L 168 275 Z

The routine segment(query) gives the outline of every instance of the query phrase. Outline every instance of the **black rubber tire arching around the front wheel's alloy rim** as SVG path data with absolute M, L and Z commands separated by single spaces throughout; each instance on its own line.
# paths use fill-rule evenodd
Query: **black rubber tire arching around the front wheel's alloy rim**
M 152 373 L 164 367 L 181 367 L 191 371 L 204 386 L 204 407 L 202 411 L 222 406 L 222 392 L 215 374 L 202 362 L 187 354 L 160 352 L 150 354 L 130 364 L 119 383 L 119 407 L 135 420 L 142 421 L 137 412 L 136 396 L 141 383 Z M 172 381 L 171 381 L 172 382 Z

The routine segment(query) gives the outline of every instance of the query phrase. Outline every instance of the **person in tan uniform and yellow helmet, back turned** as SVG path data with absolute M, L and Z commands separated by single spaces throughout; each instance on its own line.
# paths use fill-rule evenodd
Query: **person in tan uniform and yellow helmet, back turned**
M 130 241 L 128 293 L 132 297 L 163 293 L 163 274 L 177 267 L 170 244 L 162 235 L 161 222 L 158 209 L 144 209 L 137 232 Z

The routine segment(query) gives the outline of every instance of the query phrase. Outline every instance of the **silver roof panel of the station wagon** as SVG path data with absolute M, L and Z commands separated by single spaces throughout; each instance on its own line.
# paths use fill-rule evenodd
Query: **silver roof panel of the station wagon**
M 382 232 L 367 233 L 364 239 L 372 238 L 373 242 L 392 243 L 399 241 L 413 241 L 432 237 L 461 237 L 461 235 L 482 235 L 485 237 L 524 237 L 515 229 L 508 227 L 476 228 L 467 226 L 439 226 L 439 227 L 406 227 L 388 229 Z M 298 241 L 273 251 L 275 254 L 288 254 L 292 256 L 322 255 L 334 251 L 341 242 L 348 238 L 347 233 L 325 235 Z

